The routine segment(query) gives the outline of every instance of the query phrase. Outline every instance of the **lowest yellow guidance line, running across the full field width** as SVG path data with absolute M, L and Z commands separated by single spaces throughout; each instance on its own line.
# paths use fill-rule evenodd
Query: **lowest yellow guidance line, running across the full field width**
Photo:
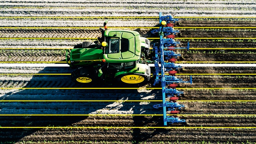
M 72 127 L 72 126 L 60 126 L 60 127 L 0 127 L 0 128 L 40 128 L 40 129 L 134 129 L 134 128 L 140 128 L 140 129 L 157 129 L 157 128 L 162 128 L 162 129 L 255 129 L 256 127 Z

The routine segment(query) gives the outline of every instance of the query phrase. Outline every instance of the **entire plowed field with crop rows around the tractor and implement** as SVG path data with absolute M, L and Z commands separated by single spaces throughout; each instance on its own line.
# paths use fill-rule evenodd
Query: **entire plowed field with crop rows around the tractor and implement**
M 157 36 L 158 14 L 181 21 L 175 29 L 190 50 L 177 64 L 256 63 L 254 0 L 78 1 L 4 0 L 0 2 L 1 143 L 256 143 L 255 66 L 183 67 L 189 80 L 179 113 L 185 124 L 163 126 L 160 86 L 84 88 L 71 82 L 66 49 L 95 41 L 109 29 Z M 12 65 L 12 64 L 18 65 Z M 4 64 L 7 64 L 4 66 Z M 26 66 L 24 64 L 27 64 Z M 31 66 L 31 65 L 34 66 Z M 125 101 L 126 100 L 126 101 Z M 134 101 L 136 100 L 136 101 Z M 189 101 L 190 100 L 190 101 Z

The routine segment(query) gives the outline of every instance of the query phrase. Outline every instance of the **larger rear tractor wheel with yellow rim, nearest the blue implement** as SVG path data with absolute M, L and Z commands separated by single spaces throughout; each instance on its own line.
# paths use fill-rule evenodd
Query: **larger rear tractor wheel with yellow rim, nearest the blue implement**
M 122 74 L 116 77 L 118 84 L 129 86 L 146 84 L 149 82 L 149 79 L 150 77 L 138 73 Z

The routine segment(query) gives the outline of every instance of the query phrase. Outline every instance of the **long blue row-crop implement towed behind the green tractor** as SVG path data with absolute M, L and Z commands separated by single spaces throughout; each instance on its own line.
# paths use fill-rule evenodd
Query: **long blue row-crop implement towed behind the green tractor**
M 162 22 L 163 21 L 163 22 Z M 171 58 L 177 58 L 180 56 L 180 54 L 176 54 L 172 50 L 168 49 L 168 47 L 172 47 L 172 49 L 187 49 L 189 50 L 189 43 L 188 46 L 185 48 L 176 48 L 177 44 L 180 44 L 180 42 L 174 41 L 173 38 L 163 38 L 164 36 L 167 36 L 169 34 L 173 34 L 173 32 L 170 32 L 171 27 L 164 27 L 164 25 L 168 23 L 175 23 L 179 21 L 179 19 L 174 19 L 172 16 L 162 16 L 162 13 L 159 13 L 159 23 L 160 28 L 157 30 L 153 30 L 151 33 L 158 33 L 158 36 L 160 37 L 159 44 L 156 46 L 154 44 L 153 51 L 155 53 L 154 56 L 154 65 L 155 65 L 155 72 L 153 73 L 153 76 L 155 77 L 155 81 L 153 85 L 156 85 L 158 83 L 161 83 L 162 86 L 162 98 L 163 102 L 161 104 L 154 105 L 154 108 L 160 108 L 163 107 L 163 119 L 164 119 L 164 125 L 167 125 L 167 122 L 170 124 L 173 123 L 179 123 L 179 122 L 186 122 L 186 120 L 180 120 L 178 117 L 169 116 L 166 113 L 166 110 L 168 111 L 176 111 L 182 109 L 185 107 L 184 105 L 178 104 L 177 102 L 173 101 L 166 101 L 167 97 L 173 97 L 173 96 L 179 96 L 181 94 L 184 94 L 182 91 L 177 91 L 173 88 L 168 88 L 167 85 L 169 84 L 176 84 L 176 83 L 190 83 L 192 84 L 192 76 L 190 76 L 189 81 L 183 81 L 183 79 L 177 78 L 174 75 L 165 75 L 165 72 L 177 70 L 181 68 L 179 65 L 175 65 L 173 62 L 166 62 L 165 60 L 171 59 Z

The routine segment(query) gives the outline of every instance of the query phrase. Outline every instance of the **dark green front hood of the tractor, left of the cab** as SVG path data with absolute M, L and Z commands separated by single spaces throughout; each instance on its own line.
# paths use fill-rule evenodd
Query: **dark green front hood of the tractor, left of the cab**
M 78 48 L 72 49 L 70 52 L 71 61 L 88 61 L 103 59 L 101 49 Z

